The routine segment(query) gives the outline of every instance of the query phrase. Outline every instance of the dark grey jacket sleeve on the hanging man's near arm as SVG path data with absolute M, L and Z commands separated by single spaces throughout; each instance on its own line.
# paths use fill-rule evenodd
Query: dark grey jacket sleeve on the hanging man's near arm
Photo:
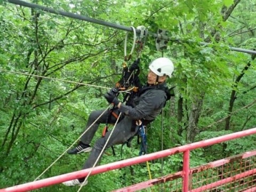
M 120 111 L 132 119 L 142 119 L 154 114 L 155 110 L 162 109 L 166 94 L 162 90 L 148 90 L 140 96 L 139 103 L 132 108 L 121 104 Z

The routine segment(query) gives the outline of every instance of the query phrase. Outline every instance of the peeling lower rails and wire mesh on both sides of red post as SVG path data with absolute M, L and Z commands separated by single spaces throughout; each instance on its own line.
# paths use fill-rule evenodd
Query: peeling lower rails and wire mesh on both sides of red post
M 149 181 L 137 183 L 114 192 L 136 191 L 148 187 L 168 183 L 161 191 L 182 190 L 183 171 L 165 175 Z M 220 159 L 205 165 L 189 169 L 189 190 L 199 191 L 256 191 L 256 150 L 241 155 Z M 153 190 L 155 191 L 155 190 Z

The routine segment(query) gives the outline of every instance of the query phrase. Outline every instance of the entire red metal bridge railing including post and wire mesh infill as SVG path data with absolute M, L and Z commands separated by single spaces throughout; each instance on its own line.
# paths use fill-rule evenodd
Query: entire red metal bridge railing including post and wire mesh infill
M 156 187 L 158 184 L 161 191 L 175 192 L 195 192 L 195 191 L 235 191 L 235 192 L 254 192 L 256 191 L 256 150 L 247 151 L 241 155 L 220 159 L 209 164 L 200 165 L 190 169 L 189 153 L 191 150 L 211 146 L 217 143 L 246 137 L 256 134 L 256 128 L 244 130 L 236 133 L 222 135 L 221 137 L 198 141 L 188 145 L 179 146 L 171 149 L 158 151 L 156 153 L 146 154 L 139 157 L 133 157 L 118 162 L 100 165 L 93 169 L 71 172 L 58 175 L 52 178 L 46 178 L 38 181 L 24 183 L 21 185 L 0 189 L 2 191 L 28 191 L 55 185 L 64 181 L 86 177 L 89 172 L 91 175 L 99 174 L 122 167 L 131 166 L 153 159 L 183 154 L 183 168 L 174 174 L 166 175 L 161 178 L 151 179 L 145 182 L 137 183 L 115 191 L 136 191 L 149 187 Z M 166 190 L 165 190 L 166 189 Z

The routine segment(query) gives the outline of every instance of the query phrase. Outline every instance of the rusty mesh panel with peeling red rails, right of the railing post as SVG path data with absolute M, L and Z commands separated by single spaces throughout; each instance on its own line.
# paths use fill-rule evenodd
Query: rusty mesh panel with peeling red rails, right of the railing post
M 255 160 L 256 150 L 252 150 L 191 169 L 190 191 L 213 191 L 213 189 L 214 191 L 243 191 L 251 189 L 256 182 Z M 204 175 L 207 177 L 205 178 Z

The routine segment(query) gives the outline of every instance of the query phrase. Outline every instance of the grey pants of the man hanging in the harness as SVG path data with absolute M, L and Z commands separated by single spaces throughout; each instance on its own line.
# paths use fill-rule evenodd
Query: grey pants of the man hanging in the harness
M 88 119 L 88 122 L 86 124 L 85 130 L 88 129 L 89 126 L 91 126 L 91 124 L 95 121 L 95 119 L 97 119 L 104 110 L 98 110 L 98 111 L 93 111 Z M 109 117 L 109 111 L 106 111 L 99 119 L 97 122 L 95 122 L 90 129 L 82 136 L 81 141 L 85 144 L 90 144 L 90 142 L 92 141 L 92 138 L 95 134 L 95 132 L 98 130 L 98 127 L 100 125 L 100 123 L 106 123 L 107 118 Z M 131 138 L 132 136 L 134 136 L 134 134 L 136 133 L 137 130 L 135 131 L 131 131 L 131 126 L 132 126 L 132 119 L 129 116 L 124 116 L 123 119 L 121 119 L 121 121 L 119 121 L 114 129 L 114 132 L 112 133 L 108 144 L 106 146 L 106 149 L 113 146 L 113 145 L 117 145 L 117 144 L 122 144 L 125 141 L 127 141 L 129 138 Z M 111 115 L 111 118 L 109 119 L 108 123 L 113 124 L 116 122 L 116 118 Z M 94 146 L 92 148 L 91 154 L 89 155 L 89 157 L 87 158 L 83 169 L 87 169 L 93 166 L 93 164 L 95 163 L 95 161 L 97 160 L 97 158 L 99 157 L 102 148 L 104 147 L 107 139 L 109 138 L 109 135 L 111 133 L 111 130 L 108 130 L 108 132 L 106 133 L 105 137 L 98 139 L 95 143 Z M 101 159 L 101 157 L 100 157 Z M 100 162 L 99 159 L 99 162 Z M 99 164 L 98 162 L 98 164 Z

